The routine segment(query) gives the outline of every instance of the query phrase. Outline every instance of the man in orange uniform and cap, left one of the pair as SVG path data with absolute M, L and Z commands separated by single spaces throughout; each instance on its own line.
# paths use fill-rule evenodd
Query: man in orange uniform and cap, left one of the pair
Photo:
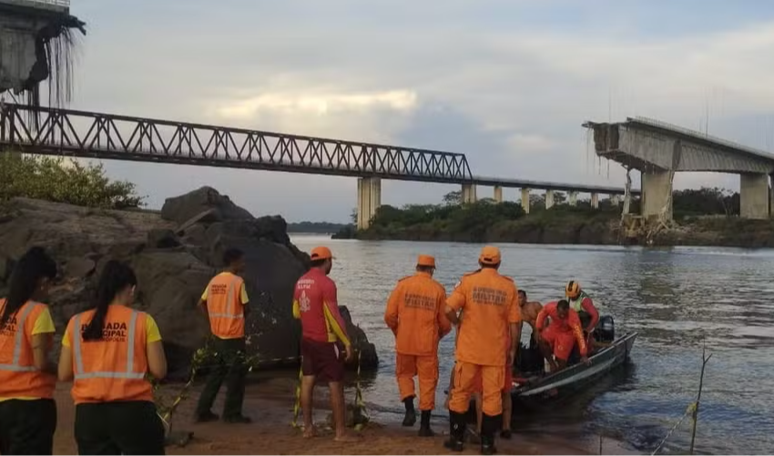
M 395 376 L 406 408 L 403 426 L 416 422 L 414 380 L 419 377 L 420 437 L 432 437 L 430 417 L 438 385 L 438 342 L 452 330 L 446 319 L 446 290 L 433 279 L 435 258 L 420 255 L 416 274 L 398 281 L 387 301 L 384 322 L 395 335 Z

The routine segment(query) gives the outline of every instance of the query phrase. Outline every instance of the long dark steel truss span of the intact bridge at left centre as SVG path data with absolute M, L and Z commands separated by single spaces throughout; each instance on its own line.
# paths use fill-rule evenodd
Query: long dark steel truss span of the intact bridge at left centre
M 463 154 L 15 104 L 0 112 L 0 147 L 339 176 L 447 183 L 472 179 Z

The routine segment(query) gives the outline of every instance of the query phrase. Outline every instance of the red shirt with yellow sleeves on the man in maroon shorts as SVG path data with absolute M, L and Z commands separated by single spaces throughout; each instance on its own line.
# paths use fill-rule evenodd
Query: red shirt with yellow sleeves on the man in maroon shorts
M 344 345 L 350 345 L 347 327 L 339 312 L 336 284 L 320 269 L 310 269 L 296 282 L 293 317 L 301 320 L 304 339 L 341 341 Z

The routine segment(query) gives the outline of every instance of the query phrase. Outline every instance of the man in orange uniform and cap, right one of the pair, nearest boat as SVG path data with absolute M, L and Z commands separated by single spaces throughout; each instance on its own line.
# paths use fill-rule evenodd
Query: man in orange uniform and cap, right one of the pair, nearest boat
M 505 367 L 513 365 L 519 339 L 521 317 L 518 289 L 513 279 L 500 275 L 500 250 L 484 247 L 478 258 L 481 269 L 466 274 L 446 301 L 446 317 L 459 323 L 454 365 L 454 385 L 449 400 L 450 438 L 445 443 L 452 451 L 463 451 L 465 412 L 477 376 L 483 383 L 481 451 L 494 454 L 494 432 L 503 412 L 502 390 Z M 457 312 L 464 313 L 463 319 Z M 510 348 L 506 342 L 510 338 Z

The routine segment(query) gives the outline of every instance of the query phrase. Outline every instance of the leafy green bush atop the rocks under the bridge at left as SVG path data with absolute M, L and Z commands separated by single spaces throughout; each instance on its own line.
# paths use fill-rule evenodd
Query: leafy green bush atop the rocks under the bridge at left
M 102 165 L 84 166 L 63 157 L 0 153 L 0 201 L 45 199 L 90 208 L 137 208 L 143 197 L 124 180 L 110 180 Z

